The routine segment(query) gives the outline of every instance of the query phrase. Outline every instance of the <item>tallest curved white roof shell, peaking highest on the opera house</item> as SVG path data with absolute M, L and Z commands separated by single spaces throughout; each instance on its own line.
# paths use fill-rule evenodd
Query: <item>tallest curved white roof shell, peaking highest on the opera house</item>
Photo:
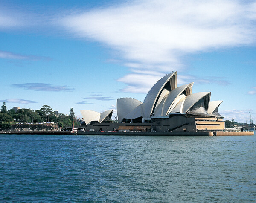
M 159 97 L 163 92 L 163 89 L 169 91 L 174 90 L 177 87 L 177 72 L 174 71 L 165 75 L 156 84 L 149 90 L 142 106 L 142 115 L 144 118 L 149 118 L 151 113 L 154 112 L 154 109 L 157 105 Z M 161 101 L 160 101 L 161 102 Z

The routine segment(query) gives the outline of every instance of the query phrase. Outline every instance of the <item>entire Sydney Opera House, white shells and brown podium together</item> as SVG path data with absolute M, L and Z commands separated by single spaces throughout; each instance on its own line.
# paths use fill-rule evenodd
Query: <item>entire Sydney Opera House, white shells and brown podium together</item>
M 165 75 L 149 90 L 144 102 L 117 99 L 117 118 L 113 110 L 98 113 L 81 110 L 85 130 L 96 131 L 222 131 L 218 113 L 222 101 L 210 101 L 211 92 L 192 93 L 193 82 L 177 87 L 177 72 Z

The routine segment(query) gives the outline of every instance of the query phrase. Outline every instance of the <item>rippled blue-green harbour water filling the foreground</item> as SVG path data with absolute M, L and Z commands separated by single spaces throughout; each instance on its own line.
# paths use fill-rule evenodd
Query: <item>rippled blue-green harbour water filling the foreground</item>
M 256 202 L 256 136 L 0 135 L 2 202 Z

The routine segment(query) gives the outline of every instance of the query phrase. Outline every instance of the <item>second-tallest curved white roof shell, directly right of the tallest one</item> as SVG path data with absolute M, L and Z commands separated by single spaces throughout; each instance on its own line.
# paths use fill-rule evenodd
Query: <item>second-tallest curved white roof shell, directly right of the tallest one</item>
M 169 92 L 168 96 L 166 96 L 163 102 L 163 108 L 161 112 L 161 116 L 167 116 L 170 112 L 173 105 L 175 105 L 175 100 L 178 99 L 178 96 L 185 92 L 186 96 L 192 94 L 192 86 L 193 83 L 185 84 L 180 87 L 175 88 L 171 92 Z M 180 98 L 179 98 L 180 99 Z

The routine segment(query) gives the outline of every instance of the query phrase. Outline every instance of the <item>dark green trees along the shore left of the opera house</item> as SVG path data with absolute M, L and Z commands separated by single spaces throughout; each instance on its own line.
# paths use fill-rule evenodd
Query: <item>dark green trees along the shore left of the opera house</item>
M 59 128 L 65 128 L 68 126 L 80 125 L 80 122 L 76 120 L 73 108 L 70 108 L 69 115 L 64 113 L 55 114 L 52 108 L 48 105 L 43 105 L 41 109 L 19 109 L 15 113 L 14 109 L 7 110 L 6 102 L 0 109 L 0 129 L 11 128 L 11 123 L 23 122 L 23 123 L 40 123 L 40 122 L 54 122 L 58 123 Z

